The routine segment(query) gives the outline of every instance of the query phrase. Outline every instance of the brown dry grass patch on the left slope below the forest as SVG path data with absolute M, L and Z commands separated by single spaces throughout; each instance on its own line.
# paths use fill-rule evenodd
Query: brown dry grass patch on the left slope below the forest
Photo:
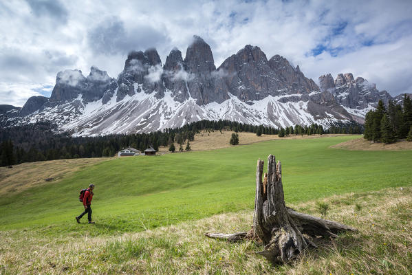
M 14 165 L 13 168 L 0 167 L 0 196 L 8 193 L 15 194 L 33 186 L 53 184 L 58 179 L 107 159 L 109 158 L 57 159 L 47 162 L 27 162 Z

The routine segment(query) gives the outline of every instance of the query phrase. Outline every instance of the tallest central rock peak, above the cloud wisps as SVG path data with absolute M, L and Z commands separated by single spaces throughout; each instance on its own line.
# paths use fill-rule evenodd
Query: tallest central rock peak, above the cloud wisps
M 216 69 L 210 46 L 196 35 L 193 36 L 193 42 L 186 50 L 184 63 L 188 71 L 193 73 L 210 73 Z

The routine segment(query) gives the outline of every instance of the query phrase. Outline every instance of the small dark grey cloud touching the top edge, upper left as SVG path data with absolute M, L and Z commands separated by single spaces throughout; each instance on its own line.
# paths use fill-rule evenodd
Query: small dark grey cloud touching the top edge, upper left
M 56 21 L 67 22 L 69 12 L 58 0 L 26 0 L 36 17 L 50 17 Z

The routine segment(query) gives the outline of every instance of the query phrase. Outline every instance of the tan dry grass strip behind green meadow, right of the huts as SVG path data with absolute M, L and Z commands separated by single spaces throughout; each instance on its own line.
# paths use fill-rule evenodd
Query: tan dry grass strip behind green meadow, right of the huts
M 195 140 L 190 142 L 192 151 L 213 150 L 218 148 L 232 147 L 229 144 L 230 137 L 234 131 L 201 131 L 195 135 Z M 239 132 L 239 145 L 252 144 L 256 142 L 265 142 L 267 140 L 296 140 L 296 139 L 312 139 L 321 137 L 336 137 L 340 135 L 288 135 L 288 137 L 279 137 L 278 135 L 261 135 L 258 137 L 256 133 Z M 179 151 L 180 145 L 175 143 L 176 152 Z M 182 145 L 183 149 L 186 144 Z M 160 146 L 159 153 L 169 153 L 169 146 Z

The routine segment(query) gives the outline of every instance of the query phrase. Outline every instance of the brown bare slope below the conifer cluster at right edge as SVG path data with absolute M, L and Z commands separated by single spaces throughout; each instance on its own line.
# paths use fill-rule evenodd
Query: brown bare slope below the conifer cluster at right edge
M 391 144 L 372 143 L 371 141 L 360 137 L 356 140 L 348 140 L 347 142 L 332 145 L 330 148 L 339 148 L 351 151 L 402 151 L 412 150 L 412 142 L 402 140 Z

